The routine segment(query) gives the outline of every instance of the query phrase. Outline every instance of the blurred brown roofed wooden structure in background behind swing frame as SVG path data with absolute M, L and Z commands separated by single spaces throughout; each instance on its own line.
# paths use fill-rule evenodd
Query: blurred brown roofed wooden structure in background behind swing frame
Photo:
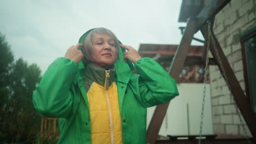
M 142 57 L 151 57 L 155 59 L 165 70 L 168 71 L 175 55 L 178 45 L 170 44 L 140 44 L 138 53 Z M 179 75 L 177 83 L 203 83 L 205 61 L 202 59 L 203 46 L 191 45 L 188 55 L 185 59 L 182 72 Z M 208 65 L 216 65 L 213 58 L 209 58 Z M 207 83 L 210 83 L 210 77 L 207 74 Z

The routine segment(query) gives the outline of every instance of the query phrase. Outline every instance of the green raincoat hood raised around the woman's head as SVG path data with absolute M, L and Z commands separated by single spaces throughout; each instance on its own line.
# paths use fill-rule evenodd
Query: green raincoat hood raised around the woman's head
M 93 29 L 95 29 L 95 28 L 92 28 L 89 31 L 85 32 L 80 37 L 78 43 L 82 44 L 86 35 L 88 35 Z M 122 44 L 120 40 L 119 40 L 119 43 Z M 80 46 L 79 50 L 82 50 L 82 49 L 83 49 L 83 47 Z M 130 77 L 133 74 L 133 71 L 135 69 L 133 67 L 133 64 L 128 59 L 127 59 L 127 63 L 124 61 L 124 52 L 125 52 L 125 49 L 123 49 L 122 47 L 119 46 L 118 59 L 114 63 L 114 65 L 115 65 L 116 74 L 117 74 L 117 81 L 123 82 L 123 83 L 128 83 L 130 80 Z M 86 65 L 84 65 L 84 63 L 82 61 L 80 61 L 78 63 L 78 67 L 79 67 L 79 70 L 82 70 L 82 71 L 84 71 L 86 69 Z

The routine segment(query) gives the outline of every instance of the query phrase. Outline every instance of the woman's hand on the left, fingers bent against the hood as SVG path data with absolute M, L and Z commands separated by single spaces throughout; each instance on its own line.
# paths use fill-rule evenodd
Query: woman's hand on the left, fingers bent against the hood
M 71 59 L 71 61 L 74 61 L 75 63 L 80 62 L 84 57 L 83 52 L 78 50 L 80 46 L 83 46 L 83 44 L 77 44 L 69 47 L 65 54 L 65 58 Z

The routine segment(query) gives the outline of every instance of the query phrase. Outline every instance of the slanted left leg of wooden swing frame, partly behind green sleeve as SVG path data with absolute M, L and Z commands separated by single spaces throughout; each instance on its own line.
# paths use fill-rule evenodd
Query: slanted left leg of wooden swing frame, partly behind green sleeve
M 196 31 L 196 27 L 197 27 L 197 20 L 189 19 L 188 25 L 185 29 L 181 43 L 179 44 L 176 54 L 173 58 L 171 68 L 170 68 L 170 75 L 176 81 L 178 80 L 179 74 L 181 73 L 181 70 L 183 68 L 185 58 L 188 55 L 189 47 L 193 39 L 194 33 Z M 148 130 L 147 130 L 147 143 L 155 143 L 169 103 L 156 106 L 154 115 L 150 121 Z

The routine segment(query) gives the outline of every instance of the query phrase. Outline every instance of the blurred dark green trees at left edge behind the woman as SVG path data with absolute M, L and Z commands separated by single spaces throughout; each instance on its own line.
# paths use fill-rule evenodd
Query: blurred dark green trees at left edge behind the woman
M 52 143 L 40 137 L 41 116 L 32 102 L 40 68 L 22 58 L 15 61 L 1 33 L 0 57 L 0 143 Z

